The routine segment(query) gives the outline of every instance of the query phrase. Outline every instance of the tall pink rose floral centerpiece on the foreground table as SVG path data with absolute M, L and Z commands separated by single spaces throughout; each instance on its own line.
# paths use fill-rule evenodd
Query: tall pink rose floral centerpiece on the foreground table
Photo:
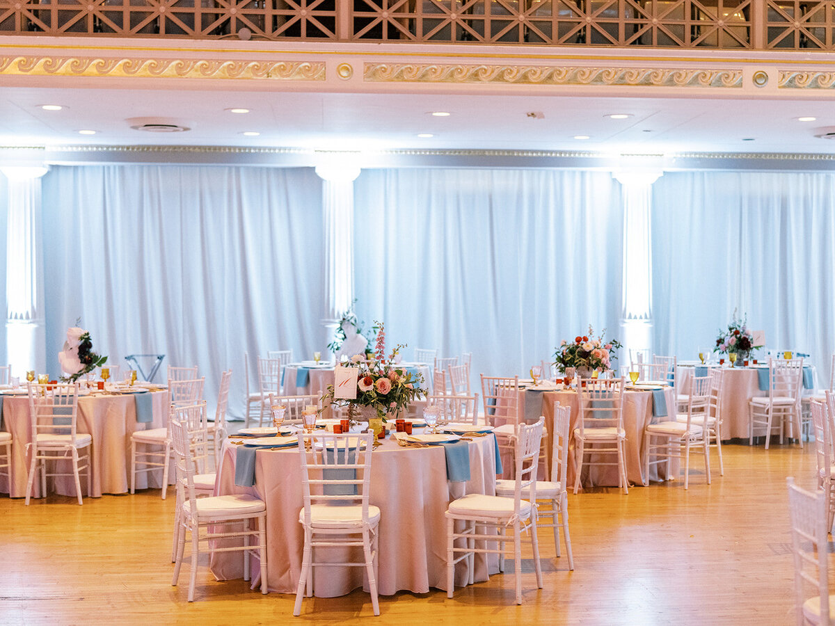
M 362 356 L 356 355 L 348 362 L 349 367 L 358 369 L 357 399 L 335 398 L 333 386 L 329 385 L 321 400 L 323 405 L 330 401 L 335 406 L 348 406 L 349 416 L 354 421 L 378 419 L 382 424 L 388 414 L 402 411 L 410 402 L 425 396 L 425 391 L 421 388 L 421 374 L 393 364 L 400 349 L 406 346 L 397 344 L 386 359 L 386 333 L 382 322 L 376 322 L 375 326 L 378 330 L 374 358 L 363 361 Z

